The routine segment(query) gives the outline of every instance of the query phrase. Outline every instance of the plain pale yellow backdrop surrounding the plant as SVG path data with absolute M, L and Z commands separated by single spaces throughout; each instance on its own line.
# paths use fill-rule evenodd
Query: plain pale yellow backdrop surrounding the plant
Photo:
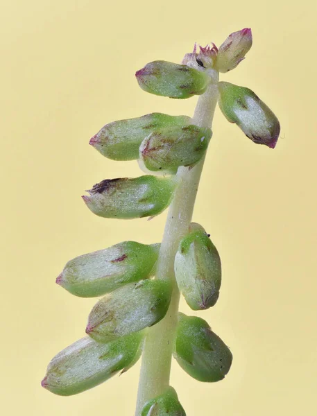
M 223 286 L 200 316 L 234 361 L 215 384 L 174 363 L 171 383 L 187 416 L 316 415 L 316 11 L 305 0 L 1 1 L 3 415 L 134 414 L 139 363 L 75 397 L 40 387 L 96 302 L 55 285 L 66 261 L 123 240 L 160 241 L 166 217 L 94 216 L 85 189 L 140 173 L 88 141 L 117 119 L 191 115 L 196 98 L 146 94 L 135 71 L 244 27 L 252 50 L 222 79 L 253 89 L 282 132 L 275 150 L 257 146 L 216 112 L 194 220 L 219 249 Z

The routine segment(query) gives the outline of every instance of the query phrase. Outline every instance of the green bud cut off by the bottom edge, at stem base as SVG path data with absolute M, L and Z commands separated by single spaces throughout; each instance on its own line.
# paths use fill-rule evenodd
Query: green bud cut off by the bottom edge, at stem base
M 178 401 L 177 393 L 173 387 L 169 387 L 162 395 L 144 405 L 141 416 L 186 416 L 186 413 Z

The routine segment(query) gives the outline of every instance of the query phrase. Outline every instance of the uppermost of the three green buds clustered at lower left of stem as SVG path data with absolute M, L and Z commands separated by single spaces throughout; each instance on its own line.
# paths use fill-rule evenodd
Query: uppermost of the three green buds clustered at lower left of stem
M 160 244 L 123 241 L 110 248 L 83 254 L 67 262 L 56 279 L 76 296 L 94 297 L 146 279 L 157 261 Z

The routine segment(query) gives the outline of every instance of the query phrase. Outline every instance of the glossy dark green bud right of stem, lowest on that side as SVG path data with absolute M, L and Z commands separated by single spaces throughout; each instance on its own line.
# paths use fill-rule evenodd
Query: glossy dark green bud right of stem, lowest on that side
M 174 358 L 185 372 L 198 381 L 220 381 L 232 363 L 230 349 L 197 316 L 179 313 Z

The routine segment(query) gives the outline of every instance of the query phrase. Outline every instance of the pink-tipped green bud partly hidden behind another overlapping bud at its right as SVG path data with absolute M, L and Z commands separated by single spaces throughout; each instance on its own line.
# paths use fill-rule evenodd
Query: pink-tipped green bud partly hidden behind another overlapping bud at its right
M 109 159 L 138 159 L 142 140 L 153 130 L 174 125 L 187 125 L 190 120 L 188 116 L 152 113 L 135 119 L 113 121 L 94 135 L 89 144 Z

